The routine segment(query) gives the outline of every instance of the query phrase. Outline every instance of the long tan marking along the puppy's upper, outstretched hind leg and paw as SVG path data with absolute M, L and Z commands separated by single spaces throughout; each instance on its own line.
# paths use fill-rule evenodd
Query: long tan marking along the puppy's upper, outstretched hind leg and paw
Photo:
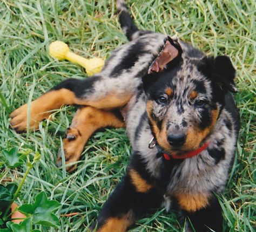
M 107 95 L 98 100 L 80 99 L 75 93 L 66 88 L 53 90 L 43 94 L 38 99 L 31 102 L 30 125 L 29 128 L 37 129 L 39 122 L 49 117 L 52 110 L 60 108 L 62 105 L 87 105 L 96 108 L 111 110 L 124 106 L 131 98 L 131 94 L 118 96 L 113 94 Z M 25 131 L 27 126 L 28 104 L 19 107 L 10 114 L 12 120 L 11 126 L 17 131 Z

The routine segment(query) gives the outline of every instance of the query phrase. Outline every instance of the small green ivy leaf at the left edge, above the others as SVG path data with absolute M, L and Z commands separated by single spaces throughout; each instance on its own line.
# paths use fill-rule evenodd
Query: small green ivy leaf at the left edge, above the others
M 22 165 L 23 159 L 25 158 L 24 155 L 18 153 L 17 147 L 12 147 L 9 151 L 3 150 L 2 154 L 9 168 L 16 168 Z

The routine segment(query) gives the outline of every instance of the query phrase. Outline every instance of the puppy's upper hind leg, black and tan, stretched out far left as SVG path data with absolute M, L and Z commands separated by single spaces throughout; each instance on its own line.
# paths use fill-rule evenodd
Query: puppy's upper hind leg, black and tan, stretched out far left
M 117 79 L 118 81 L 118 79 Z M 29 128 L 37 129 L 39 122 L 46 119 L 52 110 L 62 105 L 86 105 L 103 110 L 111 110 L 124 106 L 131 98 L 132 93 L 124 91 L 117 93 L 117 90 L 97 88 L 97 83 L 107 85 L 107 79 L 91 77 L 83 80 L 68 79 L 31 102 Z M 19 107 L 10 114 L 10 124 L 17 132 L 26 131 L 28 120 L 28 104 Z

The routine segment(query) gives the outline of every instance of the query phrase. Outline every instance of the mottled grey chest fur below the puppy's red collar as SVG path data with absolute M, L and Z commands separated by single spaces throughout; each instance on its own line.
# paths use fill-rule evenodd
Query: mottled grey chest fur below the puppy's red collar
M 232 120 L 225 111 L 209 138 L 211 144 L 207 149 L 173 167 L 167 195 L 223 190 L 236 147 L 235 133 L 224 125 L 224 120 Z M 219 155 L 223 156 L 218 160 Z

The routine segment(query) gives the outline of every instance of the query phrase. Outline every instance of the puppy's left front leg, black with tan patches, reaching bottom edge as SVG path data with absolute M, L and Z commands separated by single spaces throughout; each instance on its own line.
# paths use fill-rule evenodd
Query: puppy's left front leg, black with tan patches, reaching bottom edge
M 103 206 L 98 232 L 123 232 L 151 208 L 159 207 L 163 194 L 135 168 L 129 168 Z

